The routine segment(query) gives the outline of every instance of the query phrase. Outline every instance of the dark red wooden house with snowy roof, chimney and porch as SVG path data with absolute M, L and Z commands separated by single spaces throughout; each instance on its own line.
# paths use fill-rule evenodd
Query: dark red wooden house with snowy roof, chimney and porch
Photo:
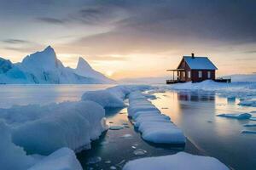
M 201 82 L 204 80 L 215 80 L 215 71 L 218 68 L 213 65 L 212 61 L 207 57 L 183 56 L 183 59 L 177 66 L 177 69 L 167 70 L 173 71 L 172 80 L 167 80 L 166 83 L 177 82 Z M 175 72 L 177 73 L 175 79 Z

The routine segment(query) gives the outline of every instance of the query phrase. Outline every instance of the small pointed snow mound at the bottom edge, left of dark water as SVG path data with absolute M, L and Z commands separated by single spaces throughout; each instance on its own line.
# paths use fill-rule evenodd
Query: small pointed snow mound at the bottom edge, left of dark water
M 61 148 L 49 156 L 44 157 L 42 161 L 29 168 L 28 170 L 82 170 L 79 161 L 73 150 Z

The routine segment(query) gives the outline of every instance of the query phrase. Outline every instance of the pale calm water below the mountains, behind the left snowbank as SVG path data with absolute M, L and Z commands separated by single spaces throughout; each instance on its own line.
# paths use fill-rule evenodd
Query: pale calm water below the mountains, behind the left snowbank
M 114 85 L 0 85 L 0 108 L 12 105 L 39 104 L 79 100 L 85 91 L 109 88 Z

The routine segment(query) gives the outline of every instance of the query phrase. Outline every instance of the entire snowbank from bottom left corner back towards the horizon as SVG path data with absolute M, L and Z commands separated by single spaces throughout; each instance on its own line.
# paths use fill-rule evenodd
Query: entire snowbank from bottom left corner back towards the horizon
M 107 129 L 103 107 L 125 106 L 131 91 L 148 88 L 118 86 L 77 102 L 0 109 L 0 169 L 80 170 L 74 151 L 89 149 Z

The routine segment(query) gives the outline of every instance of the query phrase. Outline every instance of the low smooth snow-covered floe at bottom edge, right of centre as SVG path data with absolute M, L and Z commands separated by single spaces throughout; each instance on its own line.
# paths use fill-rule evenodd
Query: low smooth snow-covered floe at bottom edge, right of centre
M 209 156 L 194 156 L 178 152 L 171 156 L 158 156 L 128 161 L 123 170 L 229 170 L 218 159 Z

